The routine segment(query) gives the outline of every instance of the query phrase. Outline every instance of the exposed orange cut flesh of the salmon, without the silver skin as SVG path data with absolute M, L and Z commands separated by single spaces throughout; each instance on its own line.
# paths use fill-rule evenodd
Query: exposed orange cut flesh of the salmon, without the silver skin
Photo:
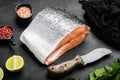
M 85 28 L 87 28 L 87 26 L 84 26 L 83 28 L 85 29 Z M 77 28 L 77 30 L 78 30 L 78 28 Z M 72 31 L 70 34 L 68 34 L 68 36 L 66 36 L 58 44 L 57 48 L 46 58 L 46 60 L 45 60 L 46 65 L 52 64 L 60 56 L 62 56 L 65 52 L 67 52 L 67 51 L 71 50 L 72 48 L 81 44 L 90 33 L 89 29 L 86 31 L 83 30 L 84 32 L 81 31 L 82 33 L 77 32 L 77 30 L 75 29 L 75 33 L 74 33 L 74 31 Z M 82 30 L 82 28 L 80 28 L 80 30 Z

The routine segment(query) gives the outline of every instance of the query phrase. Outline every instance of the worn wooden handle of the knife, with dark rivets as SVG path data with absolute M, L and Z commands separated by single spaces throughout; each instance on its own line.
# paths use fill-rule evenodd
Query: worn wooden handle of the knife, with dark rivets
M 73 70 L 77 66 L 84 65 L 82 58 L 77 55 L 74 59 L 60 63 L 58 65 L 49 66 L 48 67 L 48 74 L 49 75 L 62 75 L 71 70 Z

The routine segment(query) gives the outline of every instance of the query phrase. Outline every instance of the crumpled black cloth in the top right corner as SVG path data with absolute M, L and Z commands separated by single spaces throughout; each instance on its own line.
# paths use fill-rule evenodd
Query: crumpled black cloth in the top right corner
M 106 43 L 120 47 L 120 0 L 79 0 L 92 31 Z

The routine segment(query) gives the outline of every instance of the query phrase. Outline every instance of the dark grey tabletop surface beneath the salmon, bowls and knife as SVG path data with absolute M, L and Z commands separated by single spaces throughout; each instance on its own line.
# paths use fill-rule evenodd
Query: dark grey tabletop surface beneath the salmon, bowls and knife
M 120 56 L 120 50 L 116 50 L 101 40 L 99 40 L 92 32 L 80 46 L 70 50 L 60 57 L 54 64 L 61 63 L 74 58 L 77 54 L 84 55 L 89 51 L 106 47 L 113 51 L 113 54 L 106 56 L 92 64 L 77 68 L 73 72 L 61 77 L 48 77 L 47 66 L 41 64 L 34 55 L 23 45 L 20 40 L 20 34 L 29 25 L 29 21 L 21 21 L 15 13 L 15 6 L 18 3 L 29 3 L 33 8 L 34 16 L 45 7 L 56 7 L 66 9 L 81 18 L 80 5 L 78 0 L 0 0 L 0 25 L 10 25 L 14 28 L 14 39 L 16 46 L 9 45 L 7 42 L 0 41 L 0 67 L 3 68 L 5 75 L 3 80 L 65 80 L 68 77 L 78 76 L 80 80 L 89 80 L 88 74 L 95 69 L 104 65 L 111 65 L 111 62 Z M 25 60 L 25 66 L 22 71 L 11 73 L 6 70 L 5 62 L 12 55 L 21 55 Z

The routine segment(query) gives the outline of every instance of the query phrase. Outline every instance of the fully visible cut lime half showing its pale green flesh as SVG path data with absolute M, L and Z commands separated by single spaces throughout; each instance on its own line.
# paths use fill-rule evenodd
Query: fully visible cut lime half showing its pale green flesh
M 20 71 L 24 66 L 23 57 L 19 55 L 13 55 L 7 59 L 5 66 L 7 70 L 11 72 Z

